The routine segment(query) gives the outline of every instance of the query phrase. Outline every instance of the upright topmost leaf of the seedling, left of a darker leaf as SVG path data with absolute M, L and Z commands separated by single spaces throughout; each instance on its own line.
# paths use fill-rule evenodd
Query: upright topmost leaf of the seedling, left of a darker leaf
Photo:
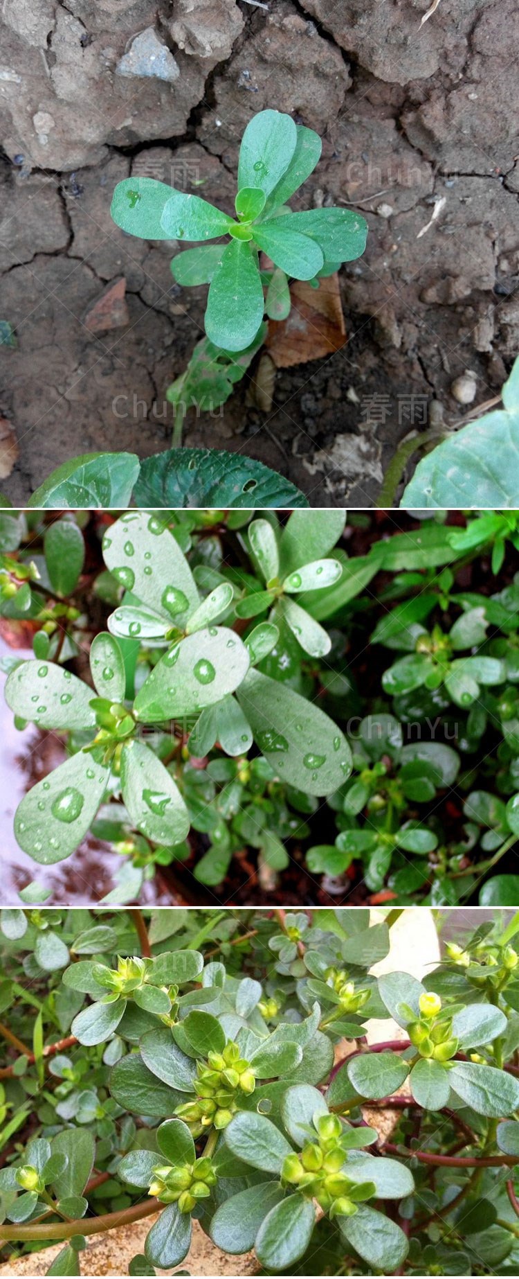
M 297 127 L 290 115 L 271 110 L 253 115 L 242 138 L 238 191 L 260 187 L 268 196 L 286 173 L 297 141 Z

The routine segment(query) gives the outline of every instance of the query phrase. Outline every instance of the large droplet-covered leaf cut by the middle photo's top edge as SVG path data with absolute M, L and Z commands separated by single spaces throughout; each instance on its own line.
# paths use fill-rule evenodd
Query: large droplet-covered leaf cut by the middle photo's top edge
M 102 554 L 120 586 L 170 625 L 182 625 L 199 597 L 185 555 L 165 524 L 152 512 L 130 510 L 105 533 Z

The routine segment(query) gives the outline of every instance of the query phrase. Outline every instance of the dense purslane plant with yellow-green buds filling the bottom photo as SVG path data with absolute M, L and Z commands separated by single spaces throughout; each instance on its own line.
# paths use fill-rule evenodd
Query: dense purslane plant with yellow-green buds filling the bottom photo
M 371 971 L 395 913 L 146 916 L 1 914 L 0 1244 L 79 1274 L 159 1210 L 130 1274 L 180 1265 L 193 1218 L 268 1273 L 514 1273 L 519 916 L 467 917 L 423 982 Z

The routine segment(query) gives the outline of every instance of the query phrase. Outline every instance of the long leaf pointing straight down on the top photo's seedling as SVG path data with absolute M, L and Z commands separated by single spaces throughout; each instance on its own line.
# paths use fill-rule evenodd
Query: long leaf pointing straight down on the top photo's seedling
M 244 350 L 263 320 L 263 289 L 248 243 L 234 239 L 222 252 L 207 295 L 206 333 L 225 350 Z

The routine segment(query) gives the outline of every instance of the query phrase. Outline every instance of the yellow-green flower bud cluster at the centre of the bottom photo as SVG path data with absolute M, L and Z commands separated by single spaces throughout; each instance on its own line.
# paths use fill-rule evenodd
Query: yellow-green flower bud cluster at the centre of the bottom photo
M 222 1053 L 208 1053 L 207 1062 L 197 1062 L 196 1101 L 176 1106 L 175 1114 L 199 1137 L 206 1128 L 226 1128 L 238 1110 L 240 1095 L 256 1088 L 256 1076 L 238 1044 L 229 1042 Z

